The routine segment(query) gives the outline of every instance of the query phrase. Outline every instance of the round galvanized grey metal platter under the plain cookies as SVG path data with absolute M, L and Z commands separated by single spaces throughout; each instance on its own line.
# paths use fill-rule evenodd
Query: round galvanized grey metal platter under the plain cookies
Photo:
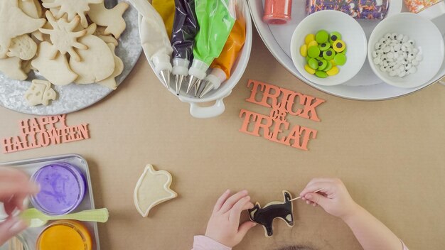
M 124 0 L 105 0 L 107 8 L 112 8 L 120 1 Z M 142 48 L 139 39 L 137 15 L 138 12 L 132 5 L 124 13 L 127 28 L 119 38 L 119 46 L 116 48 L 117 56 L 124 62 L 124 71 L 116 78 L 118 84 L 122 83 L 125 77 L 129 75 L 129 72 L 132 71 L 139 59 L 139 55 L 141 55 Z M 25 114 L 68 114 L 90 107 L 112 92 L 112 89 L 97 84 L 53 86 L 55 91 L 58 92 L 58 99 L 48 106 L 38 105 L 29 107 L 23 95 L 28 90 L 33 79 L 44 78 L 38 75 L 38 73 L 35 75 L 31 72 L 28 80 L 18 81 L 11 80 L 0 72 L 0 105 Z

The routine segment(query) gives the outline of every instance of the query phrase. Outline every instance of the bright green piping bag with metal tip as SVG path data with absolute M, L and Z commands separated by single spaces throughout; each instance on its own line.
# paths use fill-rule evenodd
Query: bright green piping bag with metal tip
M 195 37 L 193 63 L 187 93 L 193 87 L 199 89 L 210 63 L 220 56 L 230 31 L 235 24 L 235 0 L 195 0 L 199 31 Z

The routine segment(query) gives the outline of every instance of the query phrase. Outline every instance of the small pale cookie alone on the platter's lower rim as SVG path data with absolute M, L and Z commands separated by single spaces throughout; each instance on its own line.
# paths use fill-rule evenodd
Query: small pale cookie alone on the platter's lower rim
M 25 93 L 29 106 L 43 104 L 48 106 L 50 100 L 55 100 L 57 93 L 51 88 L 51 83 L 45 80 L 33 80 L 31 87 Z

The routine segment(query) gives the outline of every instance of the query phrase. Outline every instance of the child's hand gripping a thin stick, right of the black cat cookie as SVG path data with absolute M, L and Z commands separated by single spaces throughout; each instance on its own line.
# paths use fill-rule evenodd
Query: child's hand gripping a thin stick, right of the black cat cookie
M 321 191 L 316 192 L 317 190 Z M 320 205 L 329 214 L 342 219 L 353 214 L 359 207 L 339 179 L 315 178 L 306 185 L 300 196 L 306 203 Z

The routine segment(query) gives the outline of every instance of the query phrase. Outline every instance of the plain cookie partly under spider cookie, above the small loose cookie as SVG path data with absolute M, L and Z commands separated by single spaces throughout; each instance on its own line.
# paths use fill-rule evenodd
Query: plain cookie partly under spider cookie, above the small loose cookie
M 33 67 L 54 85 L 68 85 L 77 78 L 77 74 L 70 69 L 65 55 L 57 55 L 53 60 L 50 59 L 52 45 L 48 42 L 42 42 L 38 45 L 38 56 L 31 62 Z

